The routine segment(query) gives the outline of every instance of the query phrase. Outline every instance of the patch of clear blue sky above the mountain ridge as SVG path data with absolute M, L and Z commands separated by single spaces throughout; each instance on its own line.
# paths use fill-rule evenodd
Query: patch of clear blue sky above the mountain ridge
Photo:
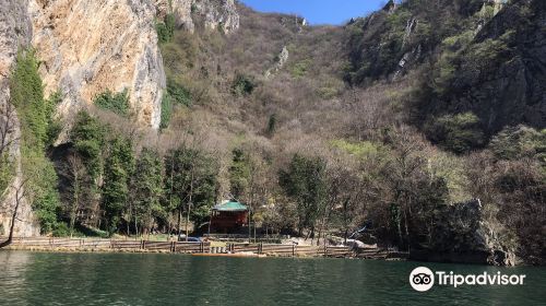
M 259 12 L 296 13 L 311 24 L 342 24 L 379 10 L 387 0 L 240 0 Z

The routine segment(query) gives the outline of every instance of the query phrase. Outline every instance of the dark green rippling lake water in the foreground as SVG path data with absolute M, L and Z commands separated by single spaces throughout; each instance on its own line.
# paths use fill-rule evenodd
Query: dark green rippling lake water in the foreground
M 419 266 L 526 274 L 519 286 L 414 291 Z M 546 269 L 352 259 L 0 251 L 0 305 L 546 305 Z

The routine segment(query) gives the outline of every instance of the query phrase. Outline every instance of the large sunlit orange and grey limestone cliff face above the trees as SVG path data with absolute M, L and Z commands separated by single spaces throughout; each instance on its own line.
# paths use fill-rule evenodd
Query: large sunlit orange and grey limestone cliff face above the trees
M 46 96 L 61 91 L 61 115 L 128 90 L 139 121 L 159 127 L 165 72 L 152 0 L 29 0 L 28 12 Z

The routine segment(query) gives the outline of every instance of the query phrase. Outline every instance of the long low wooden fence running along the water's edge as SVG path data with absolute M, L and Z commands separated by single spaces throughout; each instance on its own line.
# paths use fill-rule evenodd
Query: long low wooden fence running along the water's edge
M 0 237 L 0 242 L 4 238 Z M 115 251 L 157 251 L 177 254 L 206 254 L 206 252 L 252 252 L 258 255 L 280 257 L 346 257 L 352 256 L 349 247 L 333 246 L 298 246 L 281 244 L 248 244 L 227 243 L 226 247 L 211 247 L 211 243 L 186 242 L 150 242 L 93 238 L 51 238 L 31 237 L 14 238 L 12 248 L 23 249 L 66 249 L 66 250 L 115 250 Z

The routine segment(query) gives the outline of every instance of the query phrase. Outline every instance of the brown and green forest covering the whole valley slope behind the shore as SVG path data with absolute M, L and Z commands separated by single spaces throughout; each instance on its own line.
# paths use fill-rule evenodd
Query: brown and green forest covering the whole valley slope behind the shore
M 236 199 L 268 233 L 366 226 L 400 249 L 544 262 L 544 1 L 389 1 L 343 26 L 238 9 L 229 34 L 156 21 L 159 131 L 135 123 L 128 91 L 59 118 L 62 93 L 46 98 L 39 59 L 20 52 L 11 103 L 43 234 L 171 234 L 186 216 L 203 233 Z

